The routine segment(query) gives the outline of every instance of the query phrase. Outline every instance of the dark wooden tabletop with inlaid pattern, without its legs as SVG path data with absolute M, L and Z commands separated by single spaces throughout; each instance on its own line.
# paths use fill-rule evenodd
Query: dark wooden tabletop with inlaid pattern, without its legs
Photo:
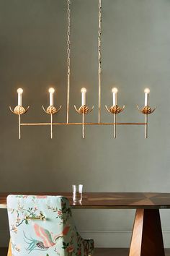
M 0 208 L 6 208 L 7 195 L 63 195 L 75 209 L 169 209 L 170 193 L 150 192 L 88 192 L 81 204 L 74 204 L 71 192 L 4 192 L 0 193 Z

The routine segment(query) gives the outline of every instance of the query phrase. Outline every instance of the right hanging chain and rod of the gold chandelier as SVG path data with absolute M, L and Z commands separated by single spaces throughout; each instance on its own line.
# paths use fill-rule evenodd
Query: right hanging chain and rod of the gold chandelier
M 101 78 L 102 78 L 102 53 L 101 53 L 101 35 L 102 35 L 102 0 L 99 0 L 99 30 L 98 30 L 98 82 L 99 82 L 99 123 L 101 121 Z

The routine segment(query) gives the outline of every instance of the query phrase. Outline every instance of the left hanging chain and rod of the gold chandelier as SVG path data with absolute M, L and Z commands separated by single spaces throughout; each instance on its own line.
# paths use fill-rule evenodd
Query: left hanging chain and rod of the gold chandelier
M 71 0 L 67 1 L 67 124 L 69 122 L 69 106 L 70 106 L 70 80 L 71 80 Z

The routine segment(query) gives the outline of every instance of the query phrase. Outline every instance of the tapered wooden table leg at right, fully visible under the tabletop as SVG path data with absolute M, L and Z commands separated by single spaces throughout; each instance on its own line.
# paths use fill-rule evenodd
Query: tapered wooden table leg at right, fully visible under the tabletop
M 129 256 L 165 256 L 158 209 L 138 209 Z

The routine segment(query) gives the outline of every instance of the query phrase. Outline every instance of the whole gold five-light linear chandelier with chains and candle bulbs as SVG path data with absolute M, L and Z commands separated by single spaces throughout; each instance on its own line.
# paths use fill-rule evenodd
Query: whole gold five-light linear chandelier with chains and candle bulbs
M 116 138 L 116 130 L 117 130 L 117 125 L 144 125 L 145 126 L 145 137 L 148 137 L 148 114 L 152 114 L 153 111 L 156 110 L 156 106 L 152 109 L 148 105 L 148 95 L 150 93 L 150 90 L 146 88 L 144 90 L 145 93 L 145 105 L 143 108 L 138 108 L 138 111 L 140 111 L 142 114 L 145 115 L 145 122 L 141 123 L 135 123 L 135 122 L 130 122 L 130 123 L 119 123 L 117 122 L 117 114 L 120 114 L 120 112 L 124 111 L 125 105 L 120 107 L 117 105 L 117 88 L 112 88 L 112 101 L 113 104 L 111 107 L 105 106 L 109 114 L 112 114 L 113 116 L 113 122 L 109 123 L 104 123 L 101 121 L 101 87 L 102 87 L 102 40 L 101 40 L 101 35 L 102 35 L 102 0 L 99 0 L 99 27 L 98 27 L 98 122 L 85 122 L 85 115 L 89 114 L 94 106 L 89 108 L 89 106 L 86 105 L 86 88 L 81 88 L 81 106 L 77 108 L 74 106 L 75 110 L 77 113 L 79 113 L 82 116 L 82 121 L 79 123 L 75 122 L 70 122 L 69 120 L 69 111 L 70 111 L 70 85 L 71 85 L 71 0 L 67 1 L 68 3 L 68 9 L 67 9 L 67 15 L 68 15 L 68 28 L 67 28 L 67 108 L 66 108 L 66 122 L 63 123 L 55 123 L 53 122 L 53 115 L 57 114 L 58 111 L 61 110 L 60 106 L 59 108 L 56 108 L 54 106 L 54 100 L 53 96 L 55 93 L 54 88 L 49 88 L 49 95 L 50 95 L 50 105 L 48 108 L 45 110 L 44 106 L 42 106 L 43 111 L 45 111 L 46 114 L 50 115 L 50 122 L 48 123 L 22 123 L 21 122 L 21 116 L 22 114 L 25 114 L 30 106 L 27 108 L 24 108 L 22 106 L 22 93 L 23 90 L 22 88 L 18 88 L 17 93 L 18 93 L 18 105 L 12 110 L 11 106 L 9 106 L 10 110 L 12 113 L 17 114 L 18 116 L 18 129 L 19 129 L 19 139 L 21 138 L 21 127 L 24 126 L 50 126 L 50 137 L 53 139 L 53 126 L 55 125 L 81 125 L 82 126 L 82 137 L 85 137 L 85 132 L 84 132 L 84 127 L 86 125 L 112 125 L 113 126 L 113 137 Z

